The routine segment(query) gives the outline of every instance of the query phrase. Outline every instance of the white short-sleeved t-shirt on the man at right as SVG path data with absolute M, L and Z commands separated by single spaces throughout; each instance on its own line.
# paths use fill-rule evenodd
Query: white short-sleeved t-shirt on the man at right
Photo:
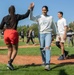
M 58 34 L 64 34 L 65 31 L 65 26 L 67 25 L 66 19 L 65 18 L 61 18 L 58 20 L 57 22 L 57 29 L 58 29 Z

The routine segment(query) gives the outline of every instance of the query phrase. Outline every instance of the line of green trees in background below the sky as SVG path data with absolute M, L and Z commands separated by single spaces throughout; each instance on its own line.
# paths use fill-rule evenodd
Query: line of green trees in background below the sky
M 69 23 L 69 27 L 74 31 L 74 22 Z M 17 30 L 20 34 L 21 30 L 24 29 L 24 35 L 26 36 L 26 32 L 30 29 L 33 29 L 35 31 L 35 37 L 38 37 L 38 25 L 36 23 L 33 23 L 32 25 L 24 25 L 24 26 L 18 26 Z

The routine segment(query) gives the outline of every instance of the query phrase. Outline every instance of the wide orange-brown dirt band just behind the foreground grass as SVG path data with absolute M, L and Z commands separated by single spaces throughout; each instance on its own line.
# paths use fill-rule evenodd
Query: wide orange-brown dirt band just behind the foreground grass
M 57 60 L 58 56 L 52 56 L 51 57 L 51 64 L 74 64 L 74 59 L 66 59 L 63 61 Z M 0 63 L 7 64 L 7 56 L 6 55 L 0 55 Z M 41 56 L 17 56 L 14 64 L 17 65 L 27 65 L 27 64 L 42 64 Z

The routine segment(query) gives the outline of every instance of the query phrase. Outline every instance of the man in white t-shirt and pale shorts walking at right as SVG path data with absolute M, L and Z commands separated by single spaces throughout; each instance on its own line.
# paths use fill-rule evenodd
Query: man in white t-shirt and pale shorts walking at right
M 63 12 L 61 12 L 61 11 L 58 12 L 58 18 L 59 18 L 59 20 L 57 22 L 58 33 L 57 33 L 57 37 L 56 37 L 56 45 L 62 51 L 62 54 L 58 58 L 58 60 L 64 60 L 68 55 L 68 52 L 65 51 L 65 49 L 64 49 L 64 43 L 65 43 L 66 36 L 67 36 L 68 25 L 67 25 L 66 19 L 63 18 Z

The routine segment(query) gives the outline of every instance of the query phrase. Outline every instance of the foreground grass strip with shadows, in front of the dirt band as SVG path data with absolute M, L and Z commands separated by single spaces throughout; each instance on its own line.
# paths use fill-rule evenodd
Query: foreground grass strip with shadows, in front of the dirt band
M 51 65 L 50 71 L 35 65 L 15 67 L 16 70 L 10 71 L 6 65 L 0 65 L 0 75 L 74 75 L 74 65 Z

